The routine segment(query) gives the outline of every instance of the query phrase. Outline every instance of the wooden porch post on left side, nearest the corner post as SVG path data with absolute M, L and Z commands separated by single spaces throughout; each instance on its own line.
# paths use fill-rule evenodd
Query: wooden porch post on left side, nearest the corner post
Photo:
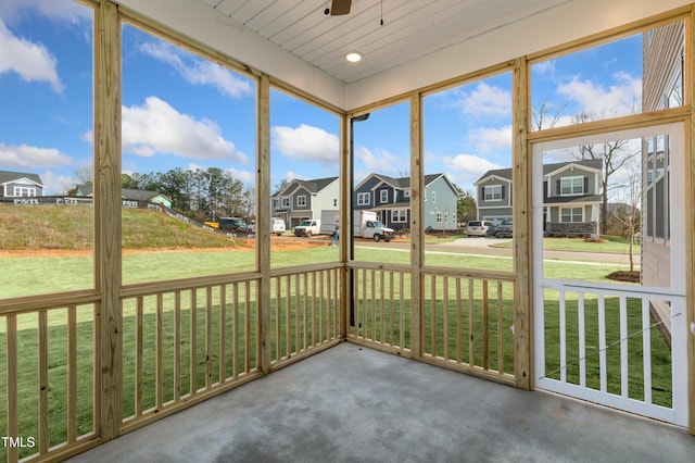
M 258 311 L 258 349 L 261 370 L 270 373 L 270 79 L 258 78 L 256 136 L 256 268 L 261 288 L 256 298 Z M 279 303 L 279 302 L 278 302 Z

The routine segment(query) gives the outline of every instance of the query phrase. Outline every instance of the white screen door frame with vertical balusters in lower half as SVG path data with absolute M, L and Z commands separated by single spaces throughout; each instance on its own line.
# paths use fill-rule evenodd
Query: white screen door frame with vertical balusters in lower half
M 606 285 L 593 284 L 576 280 L 559 280 L 544 278 L 543 275 L 543 152 L 561 148 L 577 147 L 586 143 L 596 143 L 604 141 L 641 139 L 643 137 L 652 137 L 658 135 L 669 135 L 671 153 L 670 158 L 670 198 L 671 213 L 670 217 L 670 261 L 671 261 L 671 287 L 654 288 L 644 286 L 630 285 Z M 538 252 L 533 253 L 533 328 L 534 328 L 534 370 L 535 385 L 541 389 L 554 390 L 559 393 L 566 393 L 580 399 L 603 403 L 609 406 L 626 410 L 658 420 L 674 423 L 681 426 L 687 426 L 687 327 L 685 316 L 686 302 L 686 281 L 685 281 L 685 224 L 684 224 L 684 127 L 683 123 L 661 124 L 649 127 L 641 127 L 627 130 L 607 132 L 605 134 L 567 138 L 561 140 L 544 141 L 532 145 L 532 241 L 533 249 Z M 579 303 L 580 317 L 583 316 L 583 295 L 597 295 L 599 312 L 603 306 L 603 298 L 605 296 L 619 297 L 621 305 L 621 314 L 623 306 L 627 304 L 627 298 L 664 299 L 672 304 L 672 327 L 671 327 L 671 368 L 672 368 L 672 408 L 666 409 L 650 403 L 650 391 L 645 392 L 645 400 L 635 401 L 630 399 L 627 393 L 627 379 L 623 381 L 623 391 L 621 395 L 609 393 L 606 390 L 605 372 L 601 373 L 599 389 L 586 388 L 583 380 L 580 384 L 565 383 L 564 371 L 560 379 L 547 378 L 545 372 L 545 339 L 544 339 L 544 290 L 552 288 L 559 291 L 560 295 L 560 325 L 564 326 L 564 295 L 567 292 L 577 293 L 581 300 Z M 648 303 L 643 302 L 643 326 L 648 324 Z M 599 317 L 603 314 L 599 314 Z M 627 317 L 627 315 L 626 315 Z M 601 322 L 599 322 L 601 324 Z M 580 328 L 582 329 L 582 328 Z M 622 329 L 622 328 L 621 328 Z M 622 331 L 621 331 L 622 333 Z M 648 333 L 648 330 L 647 330 Z M 580 334 L 581 336 L 581 334 Z M 599 335 L 601 336 L 601 335 Z M 605 336 L 604 336 L 605 337 Z M 622 338 L 623 336 L 621 336 Z M 648 336 L 644 336 L 644 346 L 648 347 Z M 560 345 L 563 345 L 563 334 L 560 334 Z M 621 342 L 623 345 L 623 342 Z M 601 349 L 606 346 L 602 345 Z M 580 339 L 580 352 L 583 349 Z M 627 376 L 627 340 L 624 346 L 620 346 L 624 364 L 622 366 L 622 376 Z M 565 363 L 565 346 L 560 346 L 560 367 L 566 366 Z M 602 361 L 605 362 L 605 351 L 602 353 Z M 602 363 L 603 365 L 603 363 Z M 645 372 L 649 371 L 650 364 L 645 360 Z M 582 365 L 580 365 L 581 367 Z M 646 376 L 646 373 L 645 373 Z M 645 379 L 646 381 L 646 379 Z M 646 389 L 646 387 L 645 387 Z

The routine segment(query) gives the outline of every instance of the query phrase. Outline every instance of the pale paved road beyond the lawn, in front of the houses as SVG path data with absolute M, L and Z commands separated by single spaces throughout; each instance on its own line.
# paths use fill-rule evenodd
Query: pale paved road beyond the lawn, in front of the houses
M 427 252 L 432 253 L 456 253 L 456 254 L 471 254 L 471 255 L 494 255 L 511 259 L 511 248 L 493 248 L 493 245 L 501 245 L 511 241 L 510 238 L 458 238 L 455 241 L 444 242 L 441 245 L 428 245 Z M 401 249 L 404 251 L 409 250 L 409 243 L 403 241 L 374 242 L 368 240 L 361 240 L 355 242 L 356 247 L 363 248 L 379 248 L 379 249 Z M 635 258 L 639 261 L 639 256 Z M 549 251 L 543 252 L 543 260 L 545 261 L 561 261 L 561 262 L 595 262 L 595 263 L 610 263 L 630 265 L 630 258 L 627 254 L 615 254 L 606 252 L 584 252 L 584 251 Z

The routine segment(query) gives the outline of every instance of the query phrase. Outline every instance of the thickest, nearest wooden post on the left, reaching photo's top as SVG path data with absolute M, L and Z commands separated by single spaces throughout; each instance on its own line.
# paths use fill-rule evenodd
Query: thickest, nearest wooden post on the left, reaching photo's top
M 94 276 L 97 310 L 94 415 L 97 434 L 118 436 L 123 415 L 121 320 L 121 24 L 115 3 L 102 0 L 94 47 Z

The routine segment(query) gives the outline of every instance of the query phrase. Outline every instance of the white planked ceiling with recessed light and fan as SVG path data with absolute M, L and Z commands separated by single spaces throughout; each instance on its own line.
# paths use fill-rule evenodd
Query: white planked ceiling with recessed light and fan
M 353 0 L 344 16 L 325 14 L 330 0 L 200 1 L 351 84 L 574 0 Z

